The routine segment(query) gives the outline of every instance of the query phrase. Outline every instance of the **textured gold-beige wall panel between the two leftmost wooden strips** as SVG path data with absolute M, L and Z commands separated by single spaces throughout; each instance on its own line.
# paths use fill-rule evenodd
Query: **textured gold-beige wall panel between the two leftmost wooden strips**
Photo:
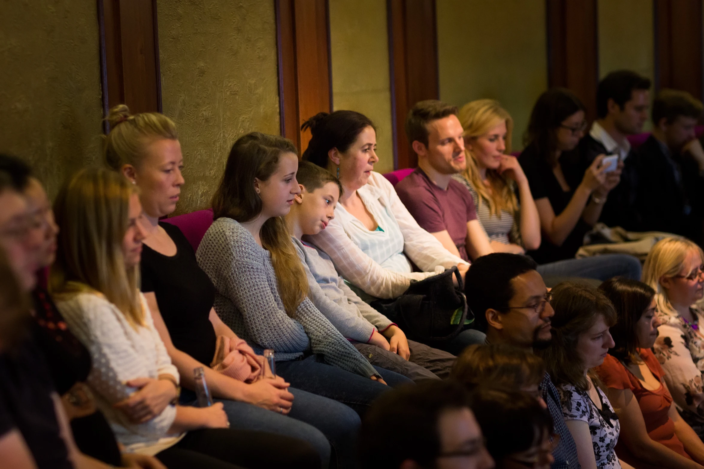
M 158 0 L 163 112 L 184 153 L 178 213 L 210 206 L 232 143 L 279 134 L 273 1 Z

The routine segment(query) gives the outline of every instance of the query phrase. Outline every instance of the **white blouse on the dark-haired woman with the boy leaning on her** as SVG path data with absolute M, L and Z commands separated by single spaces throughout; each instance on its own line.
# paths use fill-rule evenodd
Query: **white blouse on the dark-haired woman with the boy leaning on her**
M 382 174 L 372 172 L 357 193 L 382 231 L 369 231 L 337 204 L 327 228 L 306 240 L 329 255 L 342 277 L 366 294 L 360 295 L 364 300 L 396 298 L 411 280 L 467 264 L 417 224 Z M 422 272 L 413 272 L 409 259 Z

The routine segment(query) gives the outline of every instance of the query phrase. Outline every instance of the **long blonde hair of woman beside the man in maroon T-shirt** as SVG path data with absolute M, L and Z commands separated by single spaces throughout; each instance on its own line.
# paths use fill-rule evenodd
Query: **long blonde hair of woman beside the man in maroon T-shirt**
M 486 132 L 496 127 L 501 121 L 506 123 L 506 149 L 507 155 L 511 153 L 511 133 L 513 131 L 513 119 L 510 114 L 501 107 L 501 104 L 494 99 L 478 99 L 465 104 L 457 117 L 464 129 L 463 136 L 465 139 L 477 139 Z M 477 207 L 484 203 L 489 205 L 489 212 L 501 217 L 501 210 L 509 212 L 512 216 L 518 210 L 518 200 L 513 191 L 513 184 L 506 176 L 501 176 L 494 169 L 486 170 L 486 180 L 491 186 L 491 193 L 484 186 L 484 181 L 479 175 L 479 167 L 477 167 L 477 158 L 472 155 L 472 152 L 465 150 L 465 160 L 467 161 L 467 169 L 463 172 L 463 176 L 470 182 L 472 187 L 479 195 Z

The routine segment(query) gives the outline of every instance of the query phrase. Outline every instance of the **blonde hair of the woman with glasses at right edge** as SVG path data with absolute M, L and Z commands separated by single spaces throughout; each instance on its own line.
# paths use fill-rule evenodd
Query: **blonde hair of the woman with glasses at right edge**
M 650 285 L 655 290 L 655 302 L 661 314 L 677 316 L 670 299 L 667 298 L 667 290 L 660 285 L 660 278 L 674 277 L 679 274 L 685 257 L 690 251 L 696 251 L 699 258 L 704 262 L 704 252 L 696 243 L 687 238 L 665 238 L 655 243 L 646 262 L 643 264 L 643 283 Z

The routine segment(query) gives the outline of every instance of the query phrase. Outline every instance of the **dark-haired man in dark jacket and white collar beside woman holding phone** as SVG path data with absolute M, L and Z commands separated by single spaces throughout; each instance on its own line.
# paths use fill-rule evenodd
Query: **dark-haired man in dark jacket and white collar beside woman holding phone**
M 589 134 L 579 142 L 577 152 L 568 155 L 565 162 L 567 166 L 574 165 L 572 172 L 581 174 L 599 156 L 618 155 L 621 179 L 610 186 L 608 193 L 596 193 L 597 198 L 603 200 L 603 209 L 596 219 L 631 231 L 642 231 L 642 214 L 636 210 L 636 194 L 641 183 L 637 169 L 639 157 L 631 150 L 627 136 L 643 131 L 643 124 L 648 120 L 649 89 L 650 80 L 630 70 L 606 75 L 596 89 L 597 119 L 591 124 Z

